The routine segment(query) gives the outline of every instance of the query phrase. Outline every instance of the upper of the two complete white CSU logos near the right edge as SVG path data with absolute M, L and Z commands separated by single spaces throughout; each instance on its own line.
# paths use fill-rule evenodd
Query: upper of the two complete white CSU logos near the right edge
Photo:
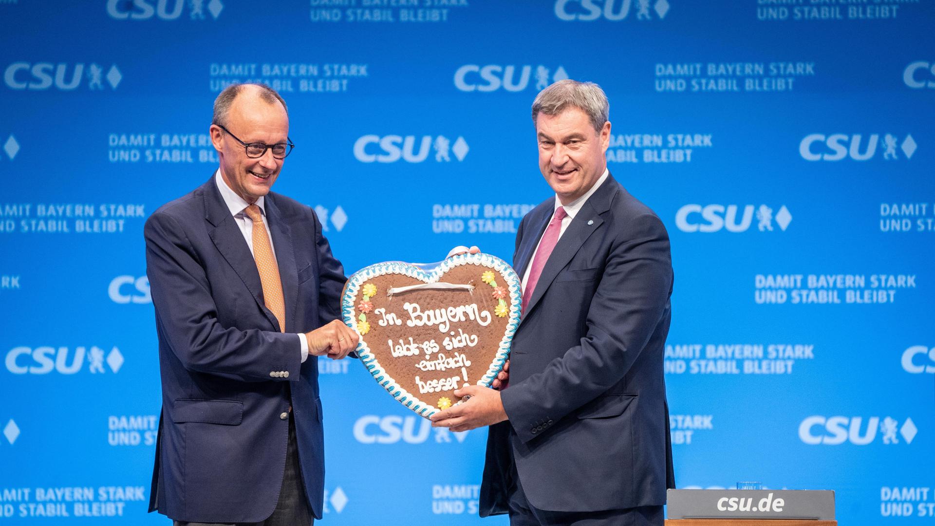
M 883 158 L 887 161 L 899 159 L 897 146 L 907 159 L 912 158 L 917 145 L 912 135 L 906 135 L 902 141 L 892 134 L 883 135 Z M 881 134 L 870 134 L 866 142 L 861 134 L 847 135 L 836 133 L 824 135 L 813 133 L 805 136 L 798 143 L 798 153 L 806 161 L 840 161 L 850 157 L 855 161 L 866 161 L 873 158 L 881 145 Z

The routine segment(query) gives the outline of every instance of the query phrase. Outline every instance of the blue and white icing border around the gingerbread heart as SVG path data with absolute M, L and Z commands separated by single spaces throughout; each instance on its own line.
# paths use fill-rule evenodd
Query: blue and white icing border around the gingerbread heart
M 490 387 L 496 375 L 503 370 L 503 364 L 510 358 L 510 345 L 513 334 L 516 333 L 516 329 L 519 327 L 522 304 L 522 297 L 520 295 L 522 285 L 520 283 L 520 277 L 506 261 L 499 257 L 489 254 L 461 254 L 445 259 L 430 271 L 425 271 L 415 265 L 402 261 L 385 261 L 357 270 L 348 280 L 347 287 L 341 297 L 341 316 L 344 318 L 344 323 L 354 331 L 357 331 L 355 303 L 361 285 L 367 282 L 367 280 L 384 274 L 404 274 L 411 278 L 424 281 L 425 283 L 435 283 L 439 281 L 441 275 L 448 270 L 464 265 L 477 265 L 496 270 L 496 272 L 506 280 L 507 290 L 510 292 L 510 314 L 507 319 L 507 329 L 504 332 L 503 339 L 500 340 L 497 346 L 496 355 L 491 362 L 490 368 L 482 375 L 481 380 L 477 381 L 477 385 L 479 386 Z M 377 380 L 377 383 L 385 388 L 387 392 L 392 394 L 393 397 L 405 407 L 425 417 L 432 416 L 439 412 L 435 404 L 420 400 L 419 397 L 411 394 L 409 391 L 396 384 L 392 379 L 384 380 L 384 378 L 388 378 L 389 375 L 383 370 L 380 361 L 370 351 L 370 348 L 363 339 L 361 339 L 360 343 L 357 343 L 357 356 L 360 357 L 361 363 L 367 367 L 367 372 Z

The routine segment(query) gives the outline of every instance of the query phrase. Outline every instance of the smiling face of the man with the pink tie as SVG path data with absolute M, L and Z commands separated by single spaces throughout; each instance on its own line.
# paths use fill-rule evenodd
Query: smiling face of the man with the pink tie
M 539 112 L 536 136 L 539 169 L 563 205 L 586 194 L 607 167 L 604 153 L 610 144 L 611 123 L 604 123 L 598 133 L 583 110 L 569 107 L 558 115 Z

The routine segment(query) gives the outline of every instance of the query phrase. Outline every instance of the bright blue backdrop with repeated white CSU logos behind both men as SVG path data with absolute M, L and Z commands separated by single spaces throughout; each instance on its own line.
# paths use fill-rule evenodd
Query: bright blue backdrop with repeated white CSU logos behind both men
M 142 226 L 216 168 L 226 83 L 285 97 L 275 189 L 350 273 L 509 260 L 551 195 L 529 107 L 566 77 L 606 90 L 611 172 L 669 229 L 679 486 L 932 524 L 933 27 L 931 0 L 0 0 L 0 524 L 167 523 Z M 485 431 L 320 367 L 326 523 L 481 520 Z

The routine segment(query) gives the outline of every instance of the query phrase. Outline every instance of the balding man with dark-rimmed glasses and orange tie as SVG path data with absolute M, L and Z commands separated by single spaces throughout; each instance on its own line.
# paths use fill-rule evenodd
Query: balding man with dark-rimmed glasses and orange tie
M 322 517 L 316 357 L 346 357 L 357 335 L 338 319 L 344 270 L 315 212 L 270 192 L 288 133 L 274 90 L 224 89 L 220 167 L 144 228 L 163 387 L 150 511 L 177 526 Z

